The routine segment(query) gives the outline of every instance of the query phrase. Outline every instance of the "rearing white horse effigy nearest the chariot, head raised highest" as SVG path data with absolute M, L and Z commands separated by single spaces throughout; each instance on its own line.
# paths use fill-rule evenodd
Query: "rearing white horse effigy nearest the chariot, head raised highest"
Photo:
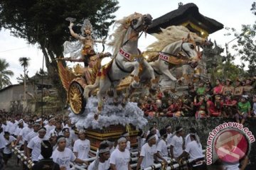
M 134 72 L 134 81 L 132 86 L 139 84 L 139 63 L 142 62 L 144 66 L 149 69 L 151 81 L 154 82 L 154 70 L 144 60 L 141 52 L 138 50 L 139 33 L 145 31 L 151 24 L 151 16 L 149 14 L 142 15 L 141 13 L 134 13 L 130 16 L 116 21 L 119 25 L 112 34 L 113 40 L 110 42 L 114 52 L 112 61 L 100 68 L 97 72 L 95 83 L 85 87 L 84 96 L 88 98 L 90 91 L 98 88 L 98 111 L 102 109 L 102 95 L 112 87 L 114 97 L 117 97 L 116 87 L 119 82 Z

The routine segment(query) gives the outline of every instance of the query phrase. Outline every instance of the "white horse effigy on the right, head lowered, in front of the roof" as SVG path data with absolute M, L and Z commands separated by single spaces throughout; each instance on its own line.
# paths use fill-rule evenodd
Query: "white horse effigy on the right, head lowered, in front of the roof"
M 189 64 L 192 68 L 195 68 L 198 65 L 200 53 L 196 50 L 196 41 L 189 31 L 187 33 L 178 30 L 186 33 L 181 35 L 175 34 L 171 28 L 174 28 L 174 26 L 161 29 L 162 32 L 159 34 L 153 34 L 157 41 L 149 45 L 149 49 L 144 54 L 147 55 L 147 60 L 154 69 L 155 77 L 165 75 L 169 78 L 169 81 L 176 81 L 176 77 L 171 74 L 170 69 L 184 64 Z M 198 40 L 200 39 L 198 38 Z M 146 68 L 142 69 L 139 79 L 139 86 L 149 82 L 149 71 Z M 127 98 L 132 94 L 132 89 L 131 86 Z

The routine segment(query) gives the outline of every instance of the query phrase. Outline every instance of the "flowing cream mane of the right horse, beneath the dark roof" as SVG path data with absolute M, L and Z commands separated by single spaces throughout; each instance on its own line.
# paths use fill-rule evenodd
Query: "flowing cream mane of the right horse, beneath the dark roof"
M 148 55 L 147 61 L 151 62 L 156 60 L 156 53 L 160 52 L 167 45 L 177 42 L 179 40 L 186 40 L 188 34 L 191 35 L 192 40 L 201 41 L 203 38 L 192 33 L 188 28 L 184 26 L 169 26 L 167 28 L 161 28 L 161 33 L 152 34 L 157 41 L 153 42 L 147 47 L 146 55 Z

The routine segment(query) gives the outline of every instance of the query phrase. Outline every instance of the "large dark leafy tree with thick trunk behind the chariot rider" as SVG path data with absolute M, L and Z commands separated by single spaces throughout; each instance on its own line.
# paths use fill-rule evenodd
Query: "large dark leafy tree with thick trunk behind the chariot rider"
M 11 30 L 12 35 L 25 38 L 31 44 L 37 43 L 45 56 L 49 78 L 61 89 L 55 59 L 63 56 L 65 40 L 75 40 L 70 36 L 65 18 L 76 18 L 75 23 L 89 18 L 97 38 L 102 38 L 114 22 L 117 4 L 117 0 L 1 0 L 0 28 Z M 78 26 L 74 30 L 80 32 Z M 62 95 L 60 98 L 65 101 L 65 92 Z

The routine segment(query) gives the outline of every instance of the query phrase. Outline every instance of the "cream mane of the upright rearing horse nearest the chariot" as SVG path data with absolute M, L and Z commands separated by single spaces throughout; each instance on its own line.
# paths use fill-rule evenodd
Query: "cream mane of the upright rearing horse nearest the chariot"
M 141 13 L 133 13 L 127 17 L 124 17 L 120 20 L 115 21 L 114 27 L 117 26 L 117 29 L 114 30 L 114 33 L 110 35 L 110 38 L 113 38 L 107 45 L 112 47 L 113 56 L 117 54 L 119 49 L 122 47 L 122 42 L 124 42 L 125 34 L 127 33 L 127 28 L 129 28 L 131 21 L 134 18 L 141 17 Z

